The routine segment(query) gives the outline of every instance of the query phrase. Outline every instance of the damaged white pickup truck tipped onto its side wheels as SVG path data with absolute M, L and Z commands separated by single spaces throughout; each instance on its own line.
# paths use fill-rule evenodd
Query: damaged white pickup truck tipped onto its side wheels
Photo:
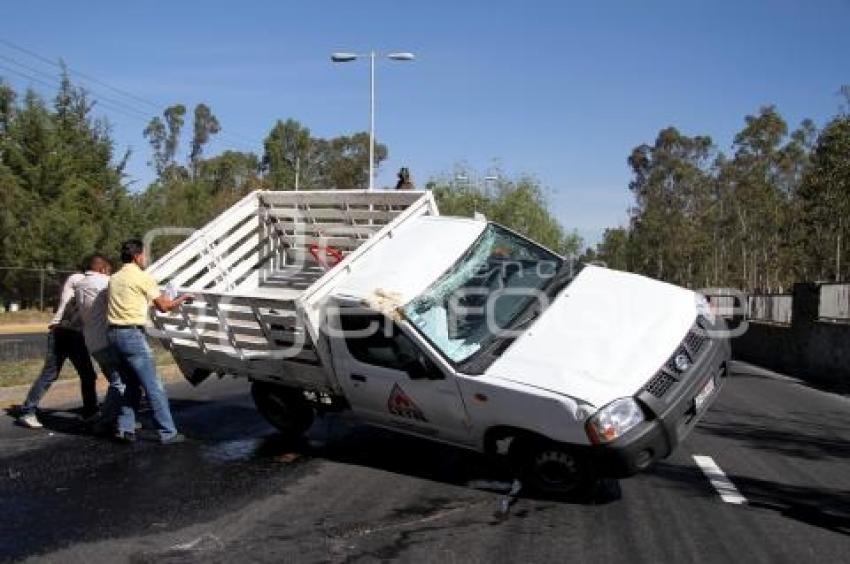
M 282 433 L 315 414 L 505 454 L 566 494 L 666 457 L 730 356 L 699 294 L 580 267 L 429 192 L 254 192 L 149 268 L 186 378 L 252 382 Z

